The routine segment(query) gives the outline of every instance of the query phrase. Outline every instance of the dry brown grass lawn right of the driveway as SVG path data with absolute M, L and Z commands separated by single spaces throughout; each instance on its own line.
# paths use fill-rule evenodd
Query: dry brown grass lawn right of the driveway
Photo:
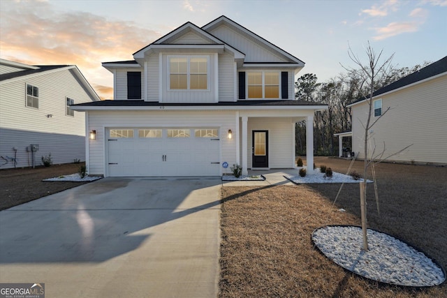
M 349 161 L 316 158 L 336 172 Z M 361 171 L 362 163 L 355 168 Z M 368 189 L 368 225 L 447 267 L 447 167 L 376 166 L 380 215 Z M 223 187 L 220 297 L 447 297 L 447 285 L 400 288 L 344 271 L 313 247 L 322 225 L 360 225 L 358 184 Z M 340 212 L 339 208 L 346 209 Z

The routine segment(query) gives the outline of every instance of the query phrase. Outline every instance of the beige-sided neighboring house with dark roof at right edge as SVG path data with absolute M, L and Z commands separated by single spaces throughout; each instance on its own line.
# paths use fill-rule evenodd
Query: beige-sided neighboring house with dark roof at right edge
M 447 57 L 377 90 L 372 100 L 372 121 L 385 113 L 369 131 L 375 155 L 385 149 L 385 158 L 411 145 L 389 160 L 447 163 Z M 353 151 L 364 158 L 367 100 L 349 107 Z

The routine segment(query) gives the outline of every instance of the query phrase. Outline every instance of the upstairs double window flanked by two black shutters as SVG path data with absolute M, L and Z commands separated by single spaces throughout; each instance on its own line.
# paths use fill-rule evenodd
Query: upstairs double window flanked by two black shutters
M 279 98 L 279 72 L 247 73 L 248 98 Z

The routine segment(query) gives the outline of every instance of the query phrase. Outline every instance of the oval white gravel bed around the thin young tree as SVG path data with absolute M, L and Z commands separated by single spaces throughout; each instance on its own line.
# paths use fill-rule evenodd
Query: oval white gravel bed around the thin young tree
M 312 233 L 318 249 L 337 265 L 365 278 L 411 287 L 441 285 L 446 274 L 424 253 L 388 234 L 367 229 L 368 251 L 362 250 L 362 229 L 326 226 Z

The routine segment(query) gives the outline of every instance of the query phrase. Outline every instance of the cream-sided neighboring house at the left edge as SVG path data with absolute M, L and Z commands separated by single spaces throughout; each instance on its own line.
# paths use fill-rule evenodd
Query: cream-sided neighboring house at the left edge
M 76 66 L 30 66 L 0 59 L 0 169 L 85 161 L 85 115 L 70 105 L 100 100 Z M 35 147 L 37 149 L 37 147 Z M 8 163 L 6 163 L 8 161 Z

